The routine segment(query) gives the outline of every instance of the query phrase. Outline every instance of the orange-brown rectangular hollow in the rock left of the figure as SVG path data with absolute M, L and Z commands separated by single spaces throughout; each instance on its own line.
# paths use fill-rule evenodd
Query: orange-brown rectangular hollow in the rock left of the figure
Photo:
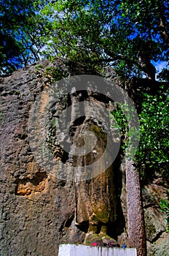
M 47 189 L 47 173 L 36 173 L 33 178 L 17 180 L 15 195 L 28 196 L 36 193 L 44 193 Z

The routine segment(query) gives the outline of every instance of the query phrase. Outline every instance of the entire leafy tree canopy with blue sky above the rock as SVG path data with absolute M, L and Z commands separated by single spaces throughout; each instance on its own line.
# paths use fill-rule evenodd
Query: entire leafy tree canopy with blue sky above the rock
M 1 2 L 4 72 L 63 56 L 109 64 L 121 79 L 143 74 L 154 79 L 152 61 L 168 61 L 168 1 Z

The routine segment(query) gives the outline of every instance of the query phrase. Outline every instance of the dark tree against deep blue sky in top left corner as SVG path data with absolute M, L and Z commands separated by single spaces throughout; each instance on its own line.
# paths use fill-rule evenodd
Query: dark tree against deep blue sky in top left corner
M 44 29 L 33 0 L 1 0 L 0 8 L 0 75 L 5 75 L 39 60 Z

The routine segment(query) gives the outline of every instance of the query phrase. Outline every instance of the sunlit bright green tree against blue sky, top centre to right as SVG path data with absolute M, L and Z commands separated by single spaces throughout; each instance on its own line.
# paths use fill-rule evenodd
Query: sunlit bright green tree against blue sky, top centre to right
M 46 56 L 111 64 L 120 78 L 146 73 L 168 61 L 168 1 L 47 1 L 51 25 Z

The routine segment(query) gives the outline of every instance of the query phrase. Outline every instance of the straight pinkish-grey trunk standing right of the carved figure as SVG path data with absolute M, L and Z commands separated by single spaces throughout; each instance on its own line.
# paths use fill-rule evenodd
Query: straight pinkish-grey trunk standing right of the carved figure
M 130 247 L 137 249 L 138 256 L 146 256 L 146 233 L 141 186 L 138 170 L 133 160 L 126 159 L 127 229 Z

